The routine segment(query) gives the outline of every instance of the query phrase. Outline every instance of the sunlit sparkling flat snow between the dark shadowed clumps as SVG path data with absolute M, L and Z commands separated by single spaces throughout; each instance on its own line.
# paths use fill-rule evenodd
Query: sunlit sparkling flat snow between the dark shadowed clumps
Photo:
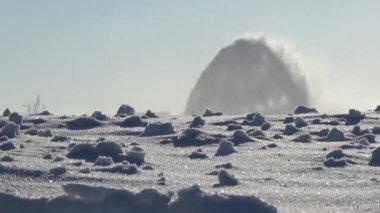
M 372 130 L 380 126 L 380 114 L 373 111 L 365 112 L 366 118 L 358 125 L 361 129 Z M 159 114 L 158 114 L 159 115 Z M 160 116 L 160 115 L 159 115 Z M 378 143 L 368 146 L 358 146 L 359 136 L 351 133 L 354 125 L 345 125 L 342 119 L 320 114 L 297 115 L 304 118 L 309 125 L 300 128 L 294 135 L 283 135 L 286 124 L 283 120 L 288 115 L 265 116 L 272 125 L 263 131 L 266 138 L 253 136 L 254 142 L 236 145 L 235 153 L 227 156 L 215 156 L 219 144 L 213 143 L 201 147 L 174 147 L 172 143 L 160 144 L 180 135 L 188 129 L 193 117 L 170 117 L 143 119 L 149 123 L 171 122 L 176 134 L 155 137 L 140 137 L 144 127 L 122 128 L 118 125 L 125 118 L 112 117 L 103 125 L 88 130 L 69 130 L 62 124 L 75 117 L 60 118 L 59 116 L 26 116 L 24 125 L 36 129 L 51 129 L 53 136 L 67 136 L 68 141 L 52 142 L 52 137 L 39 137 L 24 134 L 10 141 L 16 149 L 2 151 L 0 158 L 9 155 L 14 161 L 0 162 L 1 166 L 18 170 L 39 170 L 42 176 L 35 177 L 29 173 L 1 171 L 0 192 L 18 195 L 20 197 L 55 197 L 64 194 L 62 185 L 68 183 L 83 183 L 86 185 L 104 186 L 130 191 L 154 188 L 161 192 L 178 191 L 194 184 L 200 185 L 207 192 L 222 192 L 235 195 L 254 195 L 265 202 L 274 205 L 279 212 L 380 212 L 380 167 L 369 166 L 371 152 Z M 295 117 L 295 116 L 294 116 Z M 32 119 L 42 118 L 47 122 L 33 124 Z M 314 119 L 321 119 L 323 124 L 311 124 Z M 0 120 L 6 120 L 0 117 Z M 234 131 L 227 131 L 226 125 L 213 125 L 214 122 L 235 120 L 241 124 L 242 116 L 204 117 L 206 124 L 199 130 L 208 134 L 217 134 L 229 139 Z M 326 122 L 325 122 L 326 121 Z M 330 121 L 339 121 L 338 126 L 329 125 Z M 294 124 L 294 123 L 293 123 Z M 322 142 L 320 136 L 312 134 L 311 143 L 294 142 L 302 134 L 317 132 L 333 127 L 342 130 L 347 138 L 343 142 Z M 243 125 L 243 130 L 260 129 L 260 127 Z M 281 134 L 283 139 L 273 139 L 275 134 Z M 136 174 L 118 174 L 102 171 L 111 166 L 97 166 L 94 162 L 67 158 L 69 144 L 96 144 L 100 137 L 117 142 L 124 152 L 133 146 L 141 147 L 145 152 L 145 163 L 138 166 Z M 4 143 L 4 142 L 1 142 Z M 136 145 L 136 143 L 138 145 Z M 269 146 L 268 144 L 277 144 Z M 326 155 L 342 145 L 357 145 L 356 148 L 345 148 L 347 166 L 343 168 L 328 168 L 324 166 Z M 24 148 L 20 148 L 23 145 Z M 264 147 L 264 148 L 263 148 Z M 270 148 L 273 147 L 273 148 Z M 190 159 L 189 155 L 201 148 L 209 158 Z M 360 148 L 360 149 L 358 149 Z M 47 154 L 51 159 L 44 159 Z M 56 157 L 63 157 L 57 160 Z M 79 163 L 81 162 L 81 164 Z M 217 175 L 209 173 L 218 171 L 216 165 L 232 163 L 233 168 L 226 169 L 239 181 L 237 186 L 213 187 L 218 183 Z M 79 165 L 80 164 L 80 165 Z M 116 163 L 115 164 L 121 164 Z M 144 170 L 149 165 L 154 170 Z M 51 175 L 49 170 L 65 167 L 67 172 L 62 175 Z M 90 173 L 80 171 L 89 168 Z M 165 177 L 165 184 L 159 184 L 160 176 Z

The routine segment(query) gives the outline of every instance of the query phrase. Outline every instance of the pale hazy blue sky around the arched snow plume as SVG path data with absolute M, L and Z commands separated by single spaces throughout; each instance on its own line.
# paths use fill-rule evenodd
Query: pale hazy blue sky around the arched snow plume
M 217 51 L 247 32 L 296 44 L 321 85 L 318 108 L 374 108 L 379 9 L 356 0 L 0 0 L 0 110 L 23 111 L 39 92 L 56 114 L 113 114 L 123 103 L 179 114 Z

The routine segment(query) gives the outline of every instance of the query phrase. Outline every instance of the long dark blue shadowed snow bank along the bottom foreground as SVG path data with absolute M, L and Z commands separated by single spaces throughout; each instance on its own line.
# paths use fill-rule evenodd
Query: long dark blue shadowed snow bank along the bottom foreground
M 138 193 L 81 184 L 63 186 L 66 194 L 52 199 L 21 198 L 0 193 L 2 212 L 277 212 L 255 196 L 207 194 L 199 186 L 161 194 L 155 189 Z

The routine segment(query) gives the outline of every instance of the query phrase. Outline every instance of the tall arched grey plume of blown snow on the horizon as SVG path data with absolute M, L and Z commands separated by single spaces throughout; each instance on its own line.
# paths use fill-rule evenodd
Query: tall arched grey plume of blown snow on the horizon
M 265 36 L 235 40 L 204 70 L 185 114 L 200 114 L 206 108 L 226 114 L 280 114 L 309 104 L 306 79 L 296 60 L 286 53 Z

